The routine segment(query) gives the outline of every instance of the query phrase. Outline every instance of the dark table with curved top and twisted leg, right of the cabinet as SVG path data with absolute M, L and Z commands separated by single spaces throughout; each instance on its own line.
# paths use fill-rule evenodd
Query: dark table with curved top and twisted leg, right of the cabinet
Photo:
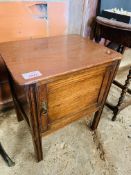
M 110 40 L 112 42 L 118 43 L 120 47 L 118 48 L 118 52 L 123 53 L 124 47 L 131 48 L 131 24 L 126 24 L 119 21 L 109 20 L 103 17 L 98 16 L 96 18 L 96 29 L 95 29 L 95 39 L 96 42 L 99 42 L 101 38 L 105 38 L 106 40 Z M 129 65 L 129 74 L 125 81 L 125 84 L 122 85 L 118 81 L 114 80 L 113 84 L 122 89 L 120 98 L 118 100 L 118 104 L 116 106 L 107 102 L 106 105 L 113 111 L 112 120 L 115 121 L 117 114 L 131 104 L 131 100 L 124 103 L 124 99 L 127 93 L 131 94 L 131 90 L 129 89 L 129 84 L 131 80 L 131 65 Z

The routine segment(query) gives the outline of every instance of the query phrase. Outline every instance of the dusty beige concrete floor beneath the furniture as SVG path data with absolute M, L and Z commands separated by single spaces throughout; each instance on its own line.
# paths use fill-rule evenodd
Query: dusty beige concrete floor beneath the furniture
M 117 78 L 124 82 L 131 65 L 126 51 Z M 116 103 L 120 89 L 112 86 L 108 99 Z M 128 96 L 128 98 L 131 98 Z M 44 160 L 36 163 L 31 135 L 24 121 L 18 123 L 14 110 L 0 113 L 0 141 L 15 161 L 8 168 L 0 157 L 0 175 L 131 175 L 131 106 L 116 122 L 105 107 L 96 132 L 86 118 L 43 138 Z

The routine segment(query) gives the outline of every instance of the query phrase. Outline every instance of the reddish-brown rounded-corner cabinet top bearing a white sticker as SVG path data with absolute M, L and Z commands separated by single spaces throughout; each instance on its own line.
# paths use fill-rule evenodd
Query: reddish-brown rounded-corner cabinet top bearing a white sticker
M 121 54 L 79 35 L 2 43 L 0 54 L 20 85 L 121 59 Z

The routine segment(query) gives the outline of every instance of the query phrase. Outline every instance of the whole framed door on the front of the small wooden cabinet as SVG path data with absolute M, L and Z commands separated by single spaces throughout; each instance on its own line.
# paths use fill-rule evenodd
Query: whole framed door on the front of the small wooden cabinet
M 62 121 L 65 125 L 86 115 L 86 110 L 95 111 L 101 105 L 109 77 L 110 71 L 105 65 L 79 71 L 48 83 L 46 85 L 48 120 L 43 115 L 42 127 L 45 128 L 45 125 L 48 125 L 49 129 Z M 41 103 L 43 103 L 45 96 L 42 92 L 45 85 L 39 88 Z

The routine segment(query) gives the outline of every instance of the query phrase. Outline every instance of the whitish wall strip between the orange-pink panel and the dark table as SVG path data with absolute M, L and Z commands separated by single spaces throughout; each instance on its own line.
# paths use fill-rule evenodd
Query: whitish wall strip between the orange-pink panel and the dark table
M 90 35 L 98 0 L 68 0 L 68 33 Z

